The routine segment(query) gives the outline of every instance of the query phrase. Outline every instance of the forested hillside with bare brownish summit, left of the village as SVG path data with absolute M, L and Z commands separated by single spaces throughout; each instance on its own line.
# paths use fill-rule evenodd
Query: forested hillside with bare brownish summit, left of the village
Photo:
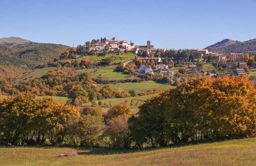
M 0 38 L 0 77 L 13 78 L 38 64 L 52 62 L 67 46 L 33 43 L 19 37 Z

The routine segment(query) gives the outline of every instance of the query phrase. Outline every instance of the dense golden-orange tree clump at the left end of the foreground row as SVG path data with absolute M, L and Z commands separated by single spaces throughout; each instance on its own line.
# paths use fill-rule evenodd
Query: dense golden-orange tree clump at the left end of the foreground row
M 61 144 L 66 122 L 78 116 L 78 108 L 52 98 L 36 99 L 31 93 L 6 98 L 0 101 L 0 144 Z

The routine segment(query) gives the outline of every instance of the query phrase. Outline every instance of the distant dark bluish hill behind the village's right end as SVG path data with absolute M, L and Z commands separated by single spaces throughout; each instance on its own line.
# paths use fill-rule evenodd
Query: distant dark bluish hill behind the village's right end
M 234 41 L 234 40 L 232 40 L 232 41 Z M 245 53 L 245 52 L 252 52 L 253 54 L 256 54 L 256 39 L 248 40 L 248 41 L 245 41 L 245 42 L 236 42 L 234 44 L 230 44 L 230 43 L 232 43 L 230 41 L 223 42 L 223 43 L 224 43 L 224 45 L 226 43 L 226 46 L 224 46 L 224 45 L 222 46 L 221 44 L 217 44 L 216 43 L 216 44 L 214 44 L 214 46 L 211 45 L 209 47 L 206 47 L 205 49 L 208 49 L 210 51 L 216 51 L 216 52 L 219 52 L 219 53 L 231 53 L 231 52 L 233 52 L 233 53 Z

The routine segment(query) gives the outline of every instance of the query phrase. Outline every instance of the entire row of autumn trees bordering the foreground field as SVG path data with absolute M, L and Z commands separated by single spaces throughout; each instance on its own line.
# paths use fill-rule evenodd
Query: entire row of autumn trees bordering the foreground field
M 148 99 L 132 116 L 127 103 L 102 113 L 29 92 L 0 101 L 2 145 L 165 147 L 255 132 L 256 90 L 247 75 L 192 78 Z

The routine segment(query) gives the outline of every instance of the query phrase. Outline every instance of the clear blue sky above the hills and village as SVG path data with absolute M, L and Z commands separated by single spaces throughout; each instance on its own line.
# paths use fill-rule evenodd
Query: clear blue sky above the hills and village
M 256 38 L 256 0 L 0 0 L 0 37 L 68 46 L 100 37 L 156 48 Z

